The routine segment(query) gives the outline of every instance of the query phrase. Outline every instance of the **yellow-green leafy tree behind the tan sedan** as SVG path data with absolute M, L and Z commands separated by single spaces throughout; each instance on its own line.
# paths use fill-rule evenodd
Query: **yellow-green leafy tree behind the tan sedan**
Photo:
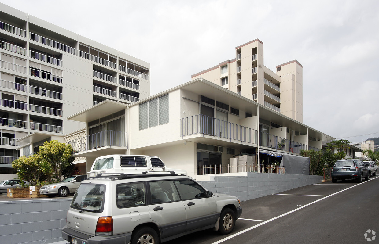
M 74 162 L 75 158 L 71 157 L 72 152 L 72 145 L 53 140 L 45 141 L 44 145 L 39 147 L 37 154 L 42 163 L 51 165 L 55 179 L 60 181 L 64 169 Z

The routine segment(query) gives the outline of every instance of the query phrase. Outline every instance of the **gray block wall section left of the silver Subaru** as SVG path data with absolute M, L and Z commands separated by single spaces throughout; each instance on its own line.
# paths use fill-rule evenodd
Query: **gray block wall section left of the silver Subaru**
M 0 243 L 41 244 L 64 241 L 70 198 L 0 202 Z

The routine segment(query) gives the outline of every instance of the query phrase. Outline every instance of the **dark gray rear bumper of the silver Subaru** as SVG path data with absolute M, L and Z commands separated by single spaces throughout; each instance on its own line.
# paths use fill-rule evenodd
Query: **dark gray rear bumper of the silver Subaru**
M 115 243 L 129 243 L 132 233 L 124 233 L 113 236 L 89 236 L 70 228 L 65 225 L 62 228 L 62 237 L 66 241 L 72 243 L 72 238 L 76 238 L 78 243 L 85 244 L 115 244 Z

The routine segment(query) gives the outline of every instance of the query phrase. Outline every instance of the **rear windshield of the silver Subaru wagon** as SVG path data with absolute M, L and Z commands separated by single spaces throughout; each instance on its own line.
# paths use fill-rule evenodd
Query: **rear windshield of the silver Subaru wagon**
M 80 184 L 72 198 L 72 208 L 78 210 L 101 213 L 103 211 L 103 199 L 105 185 L 102 184 Z

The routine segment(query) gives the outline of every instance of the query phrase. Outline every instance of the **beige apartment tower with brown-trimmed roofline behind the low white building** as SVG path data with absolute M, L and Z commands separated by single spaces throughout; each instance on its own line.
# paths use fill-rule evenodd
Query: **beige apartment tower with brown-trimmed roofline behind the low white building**
M 276 73 L 263 65 L 263 42 L 240 45 L 236 58 L 192 75 L 204 78 L 302 123 L 302 65 L 277 65 Z

